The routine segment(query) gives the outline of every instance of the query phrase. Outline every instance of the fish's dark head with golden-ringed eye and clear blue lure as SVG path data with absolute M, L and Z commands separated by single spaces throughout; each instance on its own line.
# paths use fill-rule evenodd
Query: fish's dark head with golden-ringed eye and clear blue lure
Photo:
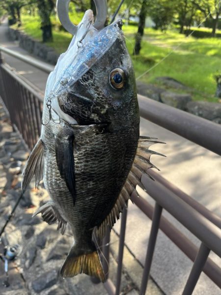
M 97 31 L 92 17 L 87 11 L 55 67 L 54 86 L 47 90 L 54 95 L 53 109 L 70 124 L 105 123 L 116 130 L 139 123 L 135 73 L 122 22 Z

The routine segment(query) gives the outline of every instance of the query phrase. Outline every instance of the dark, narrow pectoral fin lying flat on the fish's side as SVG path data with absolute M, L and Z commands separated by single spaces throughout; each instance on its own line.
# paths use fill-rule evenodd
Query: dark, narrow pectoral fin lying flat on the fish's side
M 75 162 L 73 136 L 55 136 L 55 155 L 60 176 L 64 179 L 75 205 Z

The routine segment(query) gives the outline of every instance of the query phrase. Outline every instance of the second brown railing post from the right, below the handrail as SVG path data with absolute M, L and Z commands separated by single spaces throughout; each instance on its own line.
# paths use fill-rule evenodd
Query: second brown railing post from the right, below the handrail
M 146 259 L 145 259 L 143 276 L 142 276 L 140 293 L 139 293 L 140 295 L 145 295 L 145 292 L 146 292 L 148 277 L 150 274 L 150 267 L 151 267 L 153 254 L 154 254 L 154 248 L 155 248 L 155 244 L 157 240 L 158 229 L 160 226 L 162 209 L 163 208 L 159 204 L 157 203 L 155 204 L 153 221 L 152 221 L 152 226 L 150 231 L 150 238 L 149 238 L 149 243 L 147 247 Z

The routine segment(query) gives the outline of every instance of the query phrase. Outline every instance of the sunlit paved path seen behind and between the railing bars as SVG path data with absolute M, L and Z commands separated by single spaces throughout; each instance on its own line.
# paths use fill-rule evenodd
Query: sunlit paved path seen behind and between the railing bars
M 0 26 L 0 43 L 27 55 L 16 43 L 8 42 L 4 36 L 5 25 Z M 47 75 L 23 62 L 7 58 L 6 61 L 28 80 L 44 90 Z M 24 71 L 24 72 L 22 72 Z M 140 132 L 159 138 L 166 145 L 156 145 L 154 150 L 167 157 L 153 156 L 153 163 L 161 169 L 160 174 L 177 185 L 195 200 L 221 216 L 221 159 L 218 155 L 201 148 L 166 129 L 141 119 Z M 205 134 L 206 137 L 206 134 Z M 149 198 L 147 195 L 146 198 Z M 169 214 L 166 214 L 195 244 L 199 241 L 183 228 Z M 119 230 L 118 222 L 115 226 Z M 129 205 L 126 244 L 138 260 L 143 263 L 151 222 L 136 206 Z M 211 253 L 211 258 L 221 266 L 221 259 Z M 174 246 L 168 238 L 159 233 L 151 276 L 167 295 L 179 295 L 192 267 L 192 262 Z M 221 290 L 204 274 L 194 290 L 194 295 L 220 295 Z

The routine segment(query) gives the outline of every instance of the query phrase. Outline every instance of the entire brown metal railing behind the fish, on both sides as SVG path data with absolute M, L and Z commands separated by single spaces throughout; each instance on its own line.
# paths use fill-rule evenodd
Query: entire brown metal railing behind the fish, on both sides
M 0 51 L 37 66 L 47 73 L 53 69 L 49 65 L 46 67 L 44 63 L 36 59 L 23 57 L 11 50 L 0 47 Z M 8 109 L 12 123 L 17 126 L 31 149 L 40 135 L 43 94 L 8 65 L 3 64 L 1 59 L 0 61 L 1 98 Z M 138 101 L 142 118 L 150 120 L 204 148 L 221 154 L 220 125 L 141 95 L 138 95 Z M 132 193 L 131 195 L 134 204 L 152 219 L 140 295 L 144 295 L 147 288 L 159 228 L 194 262 L 183 295 L 192 294 L 201 271 L 206 273 L 221 288 L 221 268 L 208 258 L 210 250 L 221 257 L 221 218 L 193 200 L 165 178 L 153 171 L 149 171 L 149 174 L 155 181 L 143 175 L 141 182 L 146 188 L 146 192 L 155 200 L 155 207 L 144 198 L 138 198 L 137 194 Z M 162 216 L 163 209 L 174 216 L 201 241 L 199 248 L 170 223 L 166 217 Z M 105 287 L 111 295 L 120 293 L 126 221 L 127 210 L 124 209 L 121 217 L 116 286 L 108 278 L 108 275 L 105 283 Z M 106 245 L 103 247 L 103 252 L 107 261 L 109 261 L 110 253 L 110 245 L 107 246 L 109 240 L 110 233 L 107 233 L 103 242 Z M 108 273 L 107 264 L 104 267 L 106 268 L 105 273 Z

